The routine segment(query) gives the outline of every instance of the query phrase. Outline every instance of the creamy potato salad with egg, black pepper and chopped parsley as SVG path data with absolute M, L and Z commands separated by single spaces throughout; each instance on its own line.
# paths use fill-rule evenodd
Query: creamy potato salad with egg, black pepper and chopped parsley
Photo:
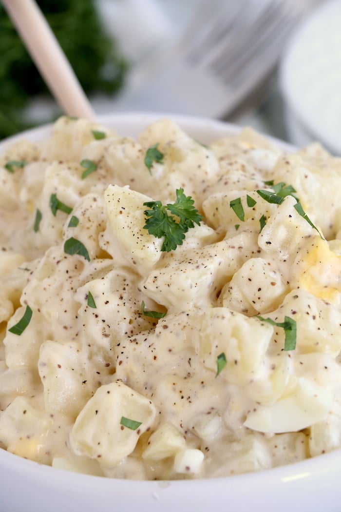
M 341 159 L 62 117 L 0 180 L 2 449 L 170 480 L 341 445 Z

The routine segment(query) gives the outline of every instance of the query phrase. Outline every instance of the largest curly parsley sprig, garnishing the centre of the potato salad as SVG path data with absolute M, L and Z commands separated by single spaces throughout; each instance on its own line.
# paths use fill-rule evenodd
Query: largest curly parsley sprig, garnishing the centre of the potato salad
M 184 194 L 183 188 L 176 190 L 176 200 L 173 204 L 164 206 L 161 201 L 149 201 L 143 204 L 149 208 L 144 212 L 146 218 L 144 229 L 156 238 L 165 237 L 162 251 L 169 252 L 176 249 L 178 245 L 182 245 L 185 233 L 189 228 L 193 228 L 194 224 L 199 226 L 202 219 L 193 206 L 193 199 Z

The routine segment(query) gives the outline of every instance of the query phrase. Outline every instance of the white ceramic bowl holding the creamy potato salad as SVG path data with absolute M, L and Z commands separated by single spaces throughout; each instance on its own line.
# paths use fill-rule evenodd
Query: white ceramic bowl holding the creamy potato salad
M 160 116 L 158 116 L 160 117 Z M 210 143 L 237 126 L 207 119 L 168 116 L 194 138 Z M 102 117 L 122 135 L 135 136 L 156 119 L 150 114 Z M 46 137 L 51 127 L 26 132 Z M 0 144 L 0 150 L 6 143 Z M 279 142 L 282 147 L 288 147 Z M 339 512 L 341 450 L 274 470 L 228 478 L 129 481 L 56 470 L 0 450 L 2 512 Z

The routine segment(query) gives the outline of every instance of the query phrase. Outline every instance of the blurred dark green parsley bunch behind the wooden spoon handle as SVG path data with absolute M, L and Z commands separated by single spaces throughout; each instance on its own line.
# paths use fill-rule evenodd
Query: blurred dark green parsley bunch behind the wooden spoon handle
M 114 95 L 128 63 L 104 33 L 96 0 L 37 0 L 87 95 Z M 5 9 L 0 5 L 0 138 L 31 127 L 22 110 L 36 96 L 50 96 Z

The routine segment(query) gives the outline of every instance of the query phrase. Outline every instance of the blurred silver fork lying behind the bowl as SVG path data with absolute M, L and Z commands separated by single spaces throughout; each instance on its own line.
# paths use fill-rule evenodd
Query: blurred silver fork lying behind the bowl
M 228 117 L 274 71 L 301 14 L 294 0 L 203 2 L 178 44 L 113 106 Z

